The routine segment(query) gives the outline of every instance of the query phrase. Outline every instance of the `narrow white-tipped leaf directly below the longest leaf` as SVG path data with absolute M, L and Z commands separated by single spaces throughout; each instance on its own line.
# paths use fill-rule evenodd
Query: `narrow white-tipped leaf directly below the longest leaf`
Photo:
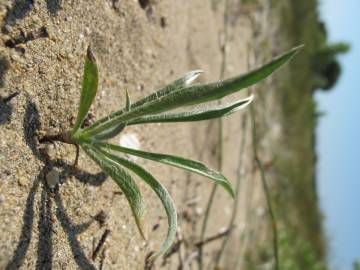
M 127 125 L 149 124 L 149 123 L 170 123 L 170 122 L 194 122 L 210 120 L 230 115 L 238 110 L 245 108 L 253 100 L 253 97 L 239 100 L 237 102 L 222 106 L 215 106 L 210 109 L 202 109 L 190 112 L 180 112 L 171 114 L 150 115 L 130 120 Z

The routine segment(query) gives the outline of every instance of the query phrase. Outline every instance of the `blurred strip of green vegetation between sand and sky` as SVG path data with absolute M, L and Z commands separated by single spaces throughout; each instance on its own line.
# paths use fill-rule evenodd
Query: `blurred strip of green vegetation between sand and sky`
M 302 57 L 290 63 L 275 86 L 284 131 L 273 187 L 279 223 L 286 228 L 279 247 L 282 269 L 327 269 L 327 241 L 316 189 L 315 128 L 322 114 L 314 91 L 335 85 L 341 74 L 337 56 L 350 47 L 328 43 L 318 5 L 317 0 L 277 0 L 275 4 L 284 27 L 282 44 L 306 45 Z

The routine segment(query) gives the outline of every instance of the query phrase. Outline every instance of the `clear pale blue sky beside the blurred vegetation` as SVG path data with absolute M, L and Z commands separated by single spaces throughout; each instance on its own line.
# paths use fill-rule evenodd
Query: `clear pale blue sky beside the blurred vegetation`
M 360 0 L 321 0 L 331 42 L 347 41 L 342 77 L 329 93 L 319 91 L 317 179 L 325 215 L 331 269 L 352 270 L 360 261 Z

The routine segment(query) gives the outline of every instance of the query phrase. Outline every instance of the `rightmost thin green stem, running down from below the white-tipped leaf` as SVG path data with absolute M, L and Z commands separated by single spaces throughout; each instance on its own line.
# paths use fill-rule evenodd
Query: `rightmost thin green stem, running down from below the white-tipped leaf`
M 275 269 L 279 270 L 278 232 L 277 232 L 276 217 L 275 217 L 275 212 L 272 207 L 270 189 L 266 182 L 265 169 L 264 169 L 264 166 L 263 166 L 263 164 L 258 156 L 258 152 L 257 152 L 256 118 L 255 118 L 255 108 L 253 105 L 250 105 L 250 112 L 251 112 L 251 123 L 252 123 L 252 144 L 253 144 L 254 159 L 255 159 L 256 165 L 258 166 L 258 168 L 260 170 L 261 183 L 262 183 L 262 186 L 263 186 L 263 189 L 265 192 L 266 204 L 267 204 L 269 216 L 270 216 L 271 229 L 272 229 L 272 234 L 273 234 Z

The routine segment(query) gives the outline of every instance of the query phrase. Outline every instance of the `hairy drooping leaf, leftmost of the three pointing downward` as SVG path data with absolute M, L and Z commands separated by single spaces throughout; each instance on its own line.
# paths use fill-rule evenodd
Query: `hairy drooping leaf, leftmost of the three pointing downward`
M 145 205 L 139 187 L 136 185 L 130 174 L 123 170 L 118 162 L 110 159 L 102 153 L 99 153 L 92 146 L 82 144 L 81 147 L 124 192 L 139 232 L 141 236 L 145 238 L 142 221 L 145 212 Z

